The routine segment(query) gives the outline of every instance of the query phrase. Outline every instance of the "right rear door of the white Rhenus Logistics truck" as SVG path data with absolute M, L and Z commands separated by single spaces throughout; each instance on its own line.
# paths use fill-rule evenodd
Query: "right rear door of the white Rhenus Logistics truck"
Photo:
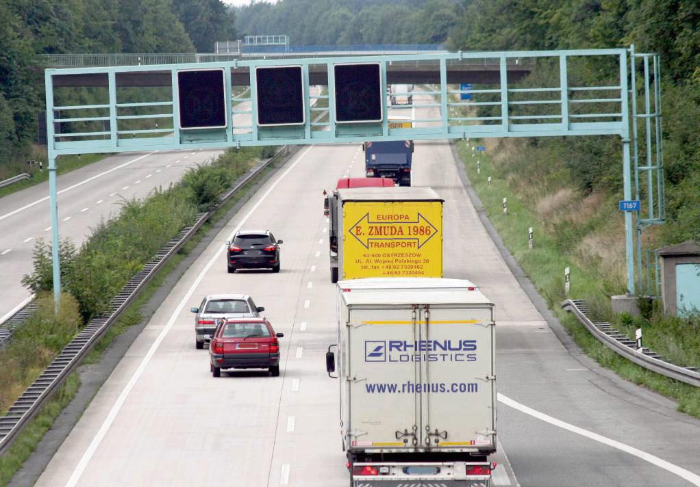
M 491 308 L 423 305 L 419 323 L 423 446 L 495 449 Z

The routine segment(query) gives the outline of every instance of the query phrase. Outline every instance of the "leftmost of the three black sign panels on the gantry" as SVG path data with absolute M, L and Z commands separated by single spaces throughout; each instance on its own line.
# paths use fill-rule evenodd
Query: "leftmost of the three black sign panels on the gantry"
M 226 126 L 223 69 L 178 71 L 181 129 L 221 129 Z

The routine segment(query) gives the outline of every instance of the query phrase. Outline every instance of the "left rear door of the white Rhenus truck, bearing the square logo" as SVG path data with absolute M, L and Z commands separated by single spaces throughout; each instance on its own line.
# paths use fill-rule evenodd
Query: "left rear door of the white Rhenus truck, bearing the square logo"
M 419 444 L 417 310 L 352 308 L 349 322 L 350 447 L 414 448 Z

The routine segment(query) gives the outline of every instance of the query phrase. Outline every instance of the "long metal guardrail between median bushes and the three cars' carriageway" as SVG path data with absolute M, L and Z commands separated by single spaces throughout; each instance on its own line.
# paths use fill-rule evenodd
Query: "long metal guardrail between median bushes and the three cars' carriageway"
M 316 120 L 323 117 L 324 113 L 318 115 Z M 297 150 L 299 147 L 295 147 Z M 182 229 L 176 238 L 170 240 L 165 247 L 156 252 L 153 259 L 137 272 L 127 284 L 124 285 L 120 293 L 115 296 L 110 303 L 110 311 L 90 320 L 83 330 L 64 347 L 61 353 L 48 365 L 34 382 L 25 390 L 20 397 L 15 400 L 8 412 L 0 416 L 0 455 L 12 444 L 22 429 L 41 409 L 44 403 L 57 391 L 66 378 L 75 370 L 83 357 L 100 337 L 109 329 L 120 315 L 127 309 L 132 301 L 137 298 L 151 278 L 167 263 L 192 236 L 199 230 L 209 217 L 228 201 L 233 195 L 240 191 L 248 182 L 258 176 L 262 170 L 278 161 L 281 157 L 289 154 L 289 147 L 284 145 L 274 154 L 273 157 L 262 161 L 253 170 L 241 179 L 227 194 L 221 197 L 214 210 L 203 212 L 197 215 L 194 224 Z M 30 301 L 20 312 L 27 310 L 27 307 L 36 306 Z M 19 312 L 18 312 L 19 313 Z M 9 340 L 9 337 L 6 337 Z

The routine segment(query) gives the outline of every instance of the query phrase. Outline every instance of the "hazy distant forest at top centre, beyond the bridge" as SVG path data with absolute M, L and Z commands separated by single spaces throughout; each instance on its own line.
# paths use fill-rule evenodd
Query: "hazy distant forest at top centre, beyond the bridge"
M 236 9 L 246 35 L 287 34 L 293 45 L 440 44 L 460 0 L 281 0 Z

